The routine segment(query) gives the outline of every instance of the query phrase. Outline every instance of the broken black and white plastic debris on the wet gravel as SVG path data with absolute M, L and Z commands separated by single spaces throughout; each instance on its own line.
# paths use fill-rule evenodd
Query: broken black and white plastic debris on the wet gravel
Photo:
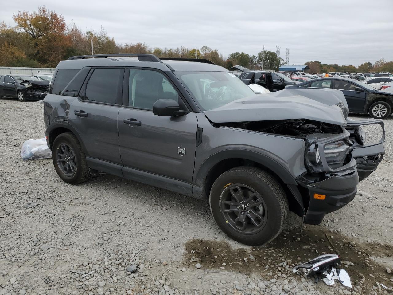
M 293 273 L 305 273 L 307 276 L 318 275 L 324 277 L 322 281 L 332 286 L 338 280 L 343 286 L 351 288 L 351 278 L 345 269 L 339 269 L 340 256 L 337 254 L 325 254 L 308 262 L 299 264 L 292 269 Z

